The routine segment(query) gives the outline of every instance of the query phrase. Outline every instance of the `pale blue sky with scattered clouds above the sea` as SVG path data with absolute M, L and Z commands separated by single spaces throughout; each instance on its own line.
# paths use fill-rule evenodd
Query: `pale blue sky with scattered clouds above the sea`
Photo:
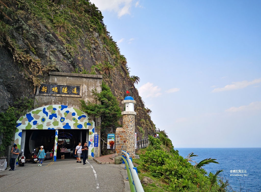
M 261 1 L 90 2 L 174 148 L 261 147 Z

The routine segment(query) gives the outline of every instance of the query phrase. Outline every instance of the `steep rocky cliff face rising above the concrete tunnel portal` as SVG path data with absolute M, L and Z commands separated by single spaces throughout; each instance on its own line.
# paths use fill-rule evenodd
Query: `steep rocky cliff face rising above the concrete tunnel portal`
M 126 59 L 95 5 L 57 0 L 3 3 L 8 8 L 0 10 L 0 112 L 17 98 L 34 98 L 35 86 L 46 81 L 49 71 L 99 74 L 122 110 L 127 90 L 137 101 L 138 137 L 153 132 L 155 125 L 129 76 Z

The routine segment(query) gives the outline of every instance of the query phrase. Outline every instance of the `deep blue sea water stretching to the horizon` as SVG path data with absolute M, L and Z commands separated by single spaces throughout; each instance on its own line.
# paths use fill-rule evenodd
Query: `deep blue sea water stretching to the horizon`
M 261 148 L 174 148 L 186 158 L 189 153 L 197 163 L 206 159 L 217 159 L 216 163 L 203 166 L 209 173 L 223 170 L 222 177 L 229 179 L 234 191 L 261 192 Z M 192 163 L 193 164 L 193 163 Z M 194 165 L 194 164 L 193 164 Z M 239 171 L 240 170 L 240 171 Z M 244 173 L 242 173 L 244 170 Z M 230 189 L 230 191 L 232 191 Z

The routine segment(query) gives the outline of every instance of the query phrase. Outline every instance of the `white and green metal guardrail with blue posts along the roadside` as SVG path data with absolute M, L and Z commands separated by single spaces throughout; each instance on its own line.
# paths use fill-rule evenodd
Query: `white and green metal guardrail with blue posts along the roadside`
M 132 164 L 132 158 L 129 157 L 129 154 L 125 151 L 122 152 L 122 160 L 125 163 L 127 174 L 128 174 L 128 180 L 130 185 L 131 192 L 144 192 L 143 187 L 140 183 L 140 179 L 138 177 L 138 171 L 137 167 L 134 167 Z M 126 157 L 126 158 L 125 158 Z

